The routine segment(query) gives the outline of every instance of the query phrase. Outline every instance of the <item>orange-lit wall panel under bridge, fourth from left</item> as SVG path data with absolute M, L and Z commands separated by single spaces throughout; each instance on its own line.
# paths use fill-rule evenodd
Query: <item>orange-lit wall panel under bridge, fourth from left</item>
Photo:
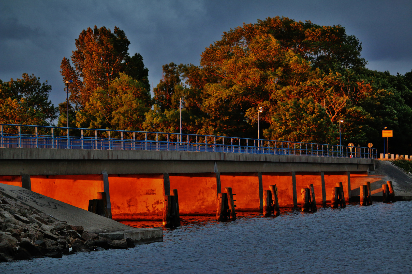
M 180 215 L 216 214 L 215 173 L 169 174 L 169 180 L 170 189 L 178 190 Z

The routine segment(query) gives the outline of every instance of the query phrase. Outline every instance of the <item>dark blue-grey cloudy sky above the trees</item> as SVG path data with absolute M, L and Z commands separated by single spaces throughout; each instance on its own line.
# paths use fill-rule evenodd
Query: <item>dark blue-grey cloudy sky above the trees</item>
M 412 70 L 412 1 L 0 0 L 0 79 L 28 73 L 47 80 L 57 106 L 66 100 L 60 63 L 76 50 L 80 32 L 117 26 L 131 42 L 129 53 L 143 56 L 155 87 L 163 64 L 198 65 L 223 32 L 275 16 L 342 25 L 362 42 L 369 69 Z

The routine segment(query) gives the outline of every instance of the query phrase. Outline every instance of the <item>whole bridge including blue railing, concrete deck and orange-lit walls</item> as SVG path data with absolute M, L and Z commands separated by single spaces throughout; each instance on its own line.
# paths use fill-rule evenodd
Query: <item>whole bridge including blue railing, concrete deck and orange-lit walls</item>
M 178 189 L 181 215 L 215 214 L 225 187 L 236 194 L 238 210 L 261 210 L 272 184 L 281 207 L 300 204 L 307 184 L 325 204 L 342 182 L 350 201 L 375 170 L 376 156 L 365 147 L 0 124 L 0 183 L 85 210 L 106 192 L 115 220 L 162 219 L 170 189 Z

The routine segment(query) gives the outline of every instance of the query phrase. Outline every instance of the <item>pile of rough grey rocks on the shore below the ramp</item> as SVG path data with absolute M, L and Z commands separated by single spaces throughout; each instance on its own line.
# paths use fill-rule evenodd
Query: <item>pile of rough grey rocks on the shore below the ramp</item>
M 61 258 L 77 252 L 126 249 L 133 239 L 110 240 L 0 195 L 0 262 Z

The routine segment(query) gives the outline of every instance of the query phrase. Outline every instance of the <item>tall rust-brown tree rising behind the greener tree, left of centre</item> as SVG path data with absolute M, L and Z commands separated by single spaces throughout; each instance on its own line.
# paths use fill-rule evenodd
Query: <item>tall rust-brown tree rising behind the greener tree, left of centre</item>
M 98 88 L 107 89 L 110 82 L 125 72 L 133 79 L 141 81 L 150 91 L 147 80 L 148 69 L 144 67 L 140 54 L 129 56 L 130 41 L 123 30 L 115 27 L 113 33 L 105 27 L 83 30 L 75 40 L 77 50 L 70 61 L 65 57 L 61 62 L 63 82 L 73 80 L 70 87 L 70 101 L 77 109 L 83 108 L 91 94 Z

